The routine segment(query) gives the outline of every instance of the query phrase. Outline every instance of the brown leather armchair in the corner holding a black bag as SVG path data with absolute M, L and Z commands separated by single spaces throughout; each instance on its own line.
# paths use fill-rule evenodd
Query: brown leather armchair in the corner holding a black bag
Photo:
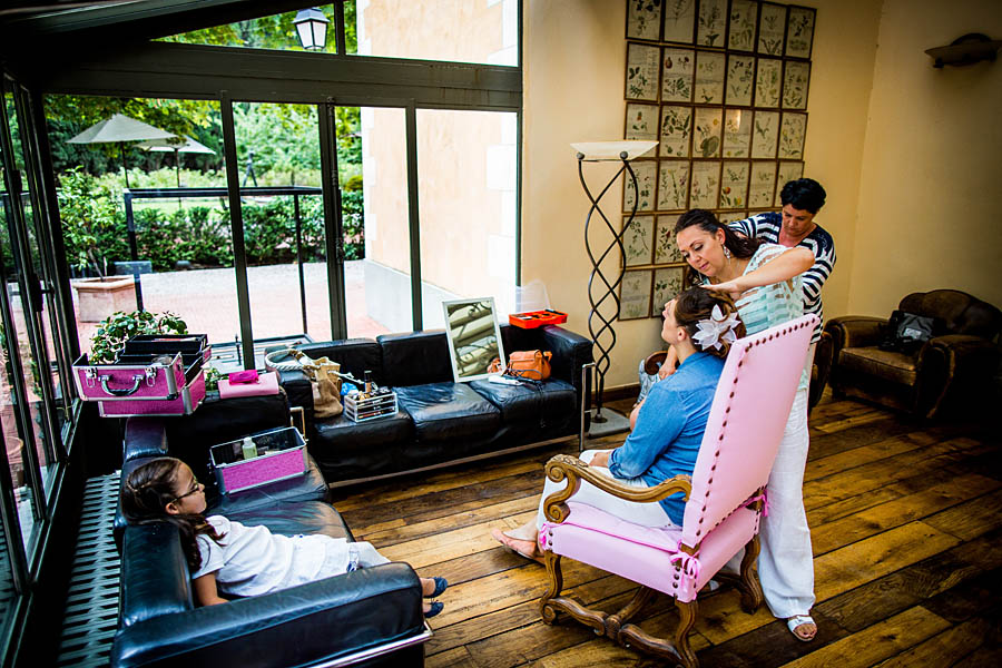
M 912 293 L 898 310 L 940 318 L 946 334 L 915 354 L 883 351 L 887 320 L 847 315 L 825 325 L 832 335 L 832 391 L 932 418 L 969 411 L 991 396 L 999 369 L 1002 311 L 956 289 Z

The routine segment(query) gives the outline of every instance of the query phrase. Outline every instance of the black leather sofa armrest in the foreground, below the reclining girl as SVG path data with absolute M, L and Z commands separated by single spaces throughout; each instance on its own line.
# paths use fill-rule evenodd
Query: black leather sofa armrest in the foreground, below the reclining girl
M 111 665 L 311 666 L 424 637 L 418 574 L 387 563 L 134 623 Z

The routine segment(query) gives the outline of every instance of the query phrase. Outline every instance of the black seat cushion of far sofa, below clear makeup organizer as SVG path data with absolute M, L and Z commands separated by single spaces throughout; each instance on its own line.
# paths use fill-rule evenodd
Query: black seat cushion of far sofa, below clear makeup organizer
M 306 446 L 330 480 L 367 478 L 393 469 L 400 448 L 414 440 L 406 411 L 352 422 L 344 414 L 317 420 Z

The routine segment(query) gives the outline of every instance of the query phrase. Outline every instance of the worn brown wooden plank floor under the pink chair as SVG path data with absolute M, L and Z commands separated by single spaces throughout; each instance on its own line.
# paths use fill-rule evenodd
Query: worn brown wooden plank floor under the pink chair
M 998 433 L 998 432 L 995 432 Z M 814 541 L 817 638 L 799 642 L 733 590 L 699 599 L 691 635 L 704 667 L 1002 666 L 1002 468 L 986 428 L 920 425 L 826 397 L 811 416 L 804 497 Z M 591 442 L 611 446 L 623 435 Z M 502 460 L 337 492 L 357 540 L 422 576 L 444 576 L 445 610 L 431 620 L 428 665 L 659 666 L 659 660 L 563 621 L 540 621 L 546 569 L 499 547 L 493 527 L 532 517 L 542 464 L 564 443 Z M 615 611 L 631 584 L 564 560 L 588 605 Z M 657 599 L 640 626 L 675 622 Z

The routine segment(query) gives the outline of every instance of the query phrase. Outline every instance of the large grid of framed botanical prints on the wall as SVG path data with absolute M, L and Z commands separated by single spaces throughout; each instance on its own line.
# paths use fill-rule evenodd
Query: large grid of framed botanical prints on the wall
M 623 188 L 620 320 L 681 289 L 671 230 L 690 208 L 725 223 L 779 207 L 804 173 L 816 10 L 764 0 L 626 0 L 626 139 L 658 145 Z M 629 213 L 637 204 L 637 214 Z

